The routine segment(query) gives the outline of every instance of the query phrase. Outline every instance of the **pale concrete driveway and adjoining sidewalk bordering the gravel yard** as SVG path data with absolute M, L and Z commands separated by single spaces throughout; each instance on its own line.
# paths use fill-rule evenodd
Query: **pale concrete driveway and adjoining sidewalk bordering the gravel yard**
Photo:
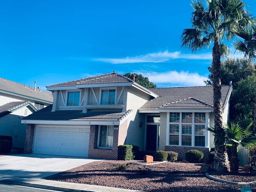
M 63 192 L 140 192 L 107 186 L 67 183 L 41 179 L 88 163 L 102 161 L 80 157 L 21 154 L 0 156 L 0 183 Z

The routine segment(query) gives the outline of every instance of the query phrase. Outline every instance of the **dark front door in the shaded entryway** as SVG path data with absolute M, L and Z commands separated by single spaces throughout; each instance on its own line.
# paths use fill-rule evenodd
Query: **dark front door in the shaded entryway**
M 146 151 L 156 151 L 157 125 L 147 125 Z

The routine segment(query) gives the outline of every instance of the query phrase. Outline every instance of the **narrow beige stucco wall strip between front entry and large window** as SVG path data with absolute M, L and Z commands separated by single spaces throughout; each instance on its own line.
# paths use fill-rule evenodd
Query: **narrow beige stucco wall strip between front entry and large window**
M 160 113 L 160 141 L 159 150 L 165 150 L 167 135 L 167 113 Z

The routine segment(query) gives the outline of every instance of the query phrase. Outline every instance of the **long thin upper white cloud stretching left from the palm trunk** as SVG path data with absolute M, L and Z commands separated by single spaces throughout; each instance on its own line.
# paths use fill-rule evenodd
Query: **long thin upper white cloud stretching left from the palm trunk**
M 93 61 L 101 61 L 105 63 L 121 64 L 121 63 L 163 63 L 168 62 L 172 59 L 212 59 L 211 53 L 205 54 L 182 54 L 181 52 L 157 52 L 150 53 L 146 55 L 138 55 L 135 57 L 125 57 L 125 58 L 96 58 Z

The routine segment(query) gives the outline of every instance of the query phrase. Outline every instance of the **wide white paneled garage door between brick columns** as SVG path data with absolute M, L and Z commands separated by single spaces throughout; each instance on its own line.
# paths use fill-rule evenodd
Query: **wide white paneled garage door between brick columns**
M 90 126 L 47 126 L 36 128 L 34 153 L 88 157 Z

